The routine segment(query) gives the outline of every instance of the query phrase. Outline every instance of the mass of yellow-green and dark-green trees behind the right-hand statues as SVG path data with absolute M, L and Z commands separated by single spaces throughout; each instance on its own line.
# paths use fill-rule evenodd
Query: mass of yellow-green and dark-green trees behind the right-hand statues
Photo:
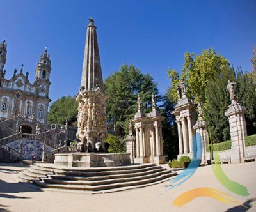
M 202 54 L 185 53 L 185 63 L 181 76 L 175 70 L 168 70 L 171 77 L 172 95 L 177 99 L 176 87 L 181 77 L 185 80 L 188 97 L 203 105 L 204 120 L 207 130 L 215 143 L 230 139 L 228 118 L 225 116 L 230 105 L 230 96 L 227 92 L 228 80 L 236 82 L 237 102 L 246 107 L 246 123 L 248 135 L 256 132 L 256 86 L 248 73 L 241 68 L 234 71 L 229 62 L 214 49 L 203 50 Z

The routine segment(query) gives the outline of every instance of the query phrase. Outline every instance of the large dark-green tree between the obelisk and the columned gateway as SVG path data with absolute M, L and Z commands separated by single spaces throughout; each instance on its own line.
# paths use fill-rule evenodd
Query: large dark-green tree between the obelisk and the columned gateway
M 161 101 L 157 84 L 148 73 L 143 74 L 135 66 L 124 64 L 119 72 L 114 72 L 104 81 L 104 88 L 109 96 L 106 101 L 107 122 L 109 128 L 115 125 L 118 137 L 128 133 L 129 120 L 137 112 L 137 98 L 140 95 L 142 109 L 145 112 L 152 107 L 151 95 L 156 95 L 156 102 Z

